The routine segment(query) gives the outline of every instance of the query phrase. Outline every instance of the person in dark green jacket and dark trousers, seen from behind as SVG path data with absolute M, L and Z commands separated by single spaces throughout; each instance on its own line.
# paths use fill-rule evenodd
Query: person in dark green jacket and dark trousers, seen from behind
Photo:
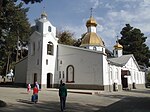
M 65 83 L 63 83 L 59 87 L 59 97 L 60 97 L 61 111 L 63 112 L 65 110 L 65 107 L 66 107 L 66 97 L 67 97 L 67 88 L 65 86 Z

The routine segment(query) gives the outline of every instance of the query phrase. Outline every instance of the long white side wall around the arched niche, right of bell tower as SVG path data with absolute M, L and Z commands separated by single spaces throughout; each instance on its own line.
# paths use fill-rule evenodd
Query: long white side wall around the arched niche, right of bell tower
M 65 72 L 68 65 L 74 66 L 74 84 L 103 84 L 103 53 L 96 52 L 84 48 L 67 47 L 65 45 L 58 46 L 58 71 Z M 60 61 L 62 64 L 60 64 Z M 59 74 L 57 74 L 59 75 Z M 58 77 L 57 77 L 58 78 Z M 55 79 L 57 83 L 59 79 Z

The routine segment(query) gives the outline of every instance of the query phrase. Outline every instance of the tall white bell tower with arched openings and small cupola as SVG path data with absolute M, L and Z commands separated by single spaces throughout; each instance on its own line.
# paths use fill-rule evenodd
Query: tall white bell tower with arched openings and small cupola
M 29 42 L 27 80 L 31 84 L 37 81 L 41 88 L 47 88 L 54 83 L 58 45 L 56 27 L 50 23 L 45 12 L 35 23 L 36 31 Z

